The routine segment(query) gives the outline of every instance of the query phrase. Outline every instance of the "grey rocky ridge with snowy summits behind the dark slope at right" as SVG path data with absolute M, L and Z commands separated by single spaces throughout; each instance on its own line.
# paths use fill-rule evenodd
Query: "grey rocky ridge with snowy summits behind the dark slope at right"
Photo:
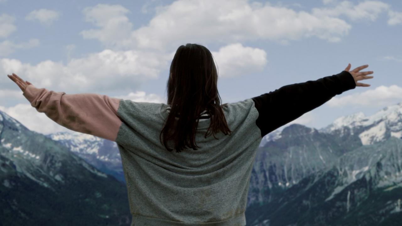
M 371 116 L 362 112 L 334 120 L 322 129 L 291 124 L 267 134 L 258 148 L 247 205 L 270 200 L 363 145 L 402 137 L 402 102 Z

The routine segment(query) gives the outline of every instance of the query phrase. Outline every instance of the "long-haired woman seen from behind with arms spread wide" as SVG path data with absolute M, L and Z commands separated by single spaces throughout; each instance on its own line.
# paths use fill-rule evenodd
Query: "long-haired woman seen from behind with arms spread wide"
M 244 226 L 251 170 L 263 136 L 337 94 L 369 86 L 357 82 L 373 78 L 367 76 L 372 71 L 360 72 L 367 67 L 349 71 L 349 64 L 336 75 L 224 105 L 211 52 L 197 44 L 178 47 L 167 104 L 66 94 L 36 88 L 16 74 L 9 78 L 56 123 L 117 143 L 131 225 Z M 207 136 L 210 129 L 213 136 Z

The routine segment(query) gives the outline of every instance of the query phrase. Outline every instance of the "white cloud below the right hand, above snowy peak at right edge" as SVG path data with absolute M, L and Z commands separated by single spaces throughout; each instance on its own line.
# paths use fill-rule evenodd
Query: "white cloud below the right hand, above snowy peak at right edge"
M 327 104 L 329 107 L 382 107 L 393 105 L 395 101 L 402 101 L 402 88 L 397 85 L 378 86 L 344 97 L 332 97 Z

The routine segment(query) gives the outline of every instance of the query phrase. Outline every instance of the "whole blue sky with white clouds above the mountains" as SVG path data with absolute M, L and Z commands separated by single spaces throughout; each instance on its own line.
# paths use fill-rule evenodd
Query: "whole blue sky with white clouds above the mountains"
M 222 103 L 368 64 L 374 78 L 359 82 L 370 86 L 278 128 L 319 129 L 402 102 L 401 40 L 402 0 L 0 0 L 0 110 L 42 134 L 69 131 L 31 107 L 11 73 L 55 92 L 166 103 L 186 43 L 211 51 Z

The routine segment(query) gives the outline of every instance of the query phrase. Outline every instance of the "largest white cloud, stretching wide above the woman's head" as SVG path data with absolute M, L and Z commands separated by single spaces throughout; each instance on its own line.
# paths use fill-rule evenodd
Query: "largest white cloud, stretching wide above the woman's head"
M 132 24 L 119 5 L 86 8 L 87 21 L 99 29 L 82 31 L 107 47 L 174 49 L 182 43 L 233 43 L 247 40 L 297 40 L 318 37 L 340 41 L 351 26 L 331 16 L 271 6 L 248 0 L 177 0 L 156 8 L 148 25 L 131 31 Z

